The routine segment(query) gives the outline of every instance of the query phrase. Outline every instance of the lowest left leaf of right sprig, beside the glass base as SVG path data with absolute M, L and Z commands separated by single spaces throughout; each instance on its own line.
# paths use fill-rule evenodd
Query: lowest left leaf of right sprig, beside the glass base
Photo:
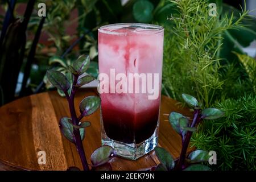
M 172 156 L 164 148 L 155 147 L 155 154 L 158 156 L 160 162 L 170 171 L 174 168 L 175 163 Z

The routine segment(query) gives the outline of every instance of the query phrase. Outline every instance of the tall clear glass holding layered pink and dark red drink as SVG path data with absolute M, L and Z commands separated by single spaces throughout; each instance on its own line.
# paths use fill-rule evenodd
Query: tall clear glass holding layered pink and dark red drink
M 98 29 L 101 140 L 124 158 L 158 143 L 163 35 L 163 27 L 142 23 Z

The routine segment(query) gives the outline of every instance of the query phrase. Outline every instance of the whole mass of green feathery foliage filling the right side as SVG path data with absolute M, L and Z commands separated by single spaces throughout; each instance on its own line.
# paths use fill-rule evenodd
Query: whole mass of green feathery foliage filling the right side
M 242 48 L 256 39 L 255 20 L 246 10 L 215 2 L 217 17 L 208 16 L 207 0 L 170 2 L 176 11 L 165 31 L 163 93 L 179 101 L 182 93 L 191 94 L 226 113 L 204 122 L 192 138 L 193 146 L 217 152 L 213 169 L 255 170 L 256 100 L 249 76 L 256 69 L 235 54 L 246 56 Z

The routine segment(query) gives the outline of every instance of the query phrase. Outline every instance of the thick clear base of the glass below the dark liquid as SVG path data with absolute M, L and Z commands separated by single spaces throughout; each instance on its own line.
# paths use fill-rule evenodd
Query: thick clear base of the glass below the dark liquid
M 117 151 L 117 155 L 122 158 L 136 160 L 148 152 L 154 150 L 158 145 L 158 129 L 155 130 L 154 134 L 144 140 L 144 142 L 136 143 L 123 143 L 113 139 L 110 139 L 106 134 L 102 135 L 101 143 L 102 145 L 108 145 L 113 147 Z

